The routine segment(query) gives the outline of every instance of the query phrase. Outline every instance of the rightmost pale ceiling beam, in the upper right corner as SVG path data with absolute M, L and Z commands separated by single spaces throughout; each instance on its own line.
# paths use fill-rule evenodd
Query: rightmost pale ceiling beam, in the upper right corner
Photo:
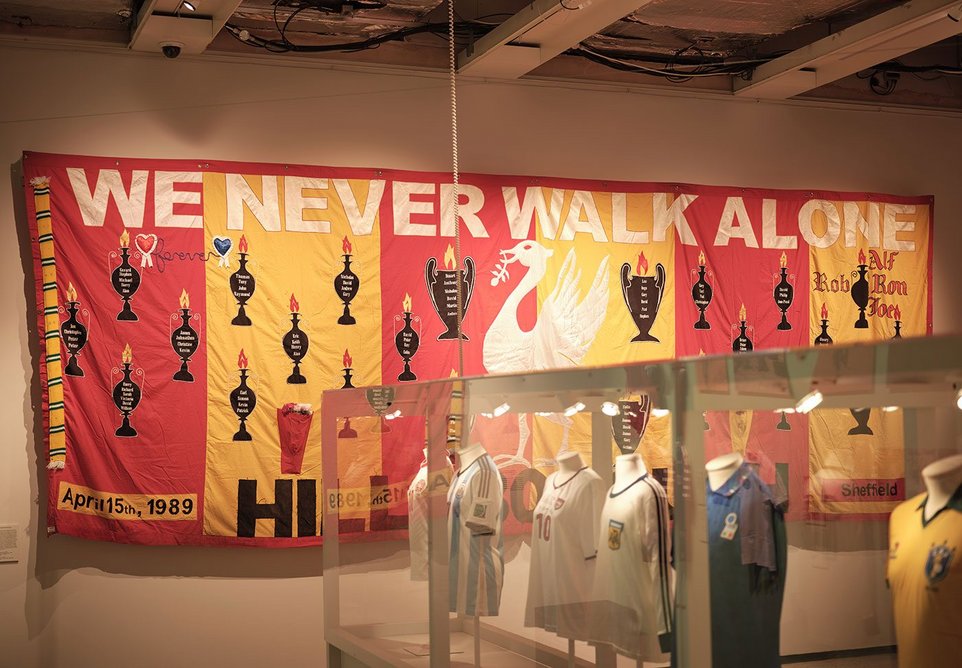
M 959 0 L 912 0 L 760 65 L 739 97 L 784 100 L 962 32 Z

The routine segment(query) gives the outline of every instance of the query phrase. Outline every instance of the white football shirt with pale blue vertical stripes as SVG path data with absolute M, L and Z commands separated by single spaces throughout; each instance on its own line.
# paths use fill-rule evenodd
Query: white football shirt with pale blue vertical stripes
M 488 454 L 458 472 L 448 489 L 451 612 L 471 617 L 498 614 L 504 580 L 503 497 L 501 474 Z

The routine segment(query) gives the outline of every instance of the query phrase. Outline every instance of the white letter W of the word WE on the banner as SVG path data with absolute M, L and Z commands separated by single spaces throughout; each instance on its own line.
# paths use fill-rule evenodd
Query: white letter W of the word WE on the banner
M 67 176 L 73 189 L 84 225 L 103 227 L 107 217 L 107 200 L 113 196 L 124 227 L 143 227 L 144 208 L 147 203 L 147 176 L 150 172 L 135 169 L 131 172 L 130 192 L 124 189 L 120 172 L 101 169 L 97 172 L 97 185 L 93 193 L 87 185 L 87 173 L 83 168 L 68 167 Z

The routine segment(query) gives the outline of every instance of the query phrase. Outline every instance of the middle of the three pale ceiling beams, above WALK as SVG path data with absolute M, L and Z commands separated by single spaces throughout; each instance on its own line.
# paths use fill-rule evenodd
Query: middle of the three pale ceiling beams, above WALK
M 534 0 L 458 54 L 458 71 L 517 79 L 652 0 Z

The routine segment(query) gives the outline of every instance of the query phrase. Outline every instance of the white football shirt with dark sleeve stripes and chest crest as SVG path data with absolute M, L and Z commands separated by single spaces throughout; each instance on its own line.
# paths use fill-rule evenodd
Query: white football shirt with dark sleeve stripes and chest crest
M 665 489 L 647 473 L 612 487 L 599 535 L 590 640 L 632 658 L 667 661 L 658 640 L 673 626 Z

